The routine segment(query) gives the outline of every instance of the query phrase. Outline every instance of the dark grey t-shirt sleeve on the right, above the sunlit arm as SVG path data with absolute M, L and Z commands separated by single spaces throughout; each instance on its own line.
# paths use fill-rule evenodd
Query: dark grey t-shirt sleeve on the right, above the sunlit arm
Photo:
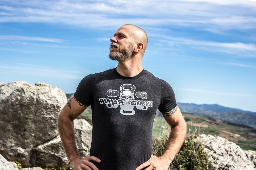
M 161 103 L 158 110 L 168 112 L 177 106 L 173 88 L 164 80 L 161 80 Z

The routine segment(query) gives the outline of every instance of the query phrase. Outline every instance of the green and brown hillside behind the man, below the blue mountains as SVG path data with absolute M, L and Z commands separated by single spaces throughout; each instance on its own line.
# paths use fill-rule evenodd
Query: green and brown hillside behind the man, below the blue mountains
M 197 130 L 199 134 L 220 136 L 236 143 L 243 150 L 256 151 L 256 129 L 236 126 L 226 121 L 216 120 L 209 116 L 200 116 L 190 113 L 182 113 L 189 132 Z M 168 126 L 162 115 L 156 116 L 153 125 L 153 139 L 161 133 L 164 126 Z

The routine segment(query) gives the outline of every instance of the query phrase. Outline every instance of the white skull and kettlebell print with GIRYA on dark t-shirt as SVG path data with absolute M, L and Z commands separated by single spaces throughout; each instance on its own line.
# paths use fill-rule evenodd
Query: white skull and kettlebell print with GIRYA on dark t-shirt
M 120 93 L 118 90 L 109 89 L 107 91 L 108 97 L 118 97 L 115 98 L 100 98 L 100 104 L 106 104 L 107 108 L 118 108 L 120 106 L 120 113 L 123 115 L 134 115 L 134 106 L 138 110 L 147 110 L 148 107 L 154 107 L 153 101 L 145 101 L 147 99 L 147 93 L 144 91 L 137 91 L 134 96 L 136 87 L 132 84 L 123 84 L 120 86 Z M 120 95 L 119 95 L 120 94 Z M 135 100 L 138 99 L 144 100 Z

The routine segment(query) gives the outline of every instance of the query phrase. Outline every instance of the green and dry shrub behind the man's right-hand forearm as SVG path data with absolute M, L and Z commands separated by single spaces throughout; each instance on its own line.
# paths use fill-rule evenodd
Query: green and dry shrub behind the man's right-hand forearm
M 165 130 L 158 134 L 152 141 L 153 155 L 161 156 L 165 151 L 165 147 L 168 142 L 170 129 Z M 183 143 L 180 151 L 177 153 L 175 159 L 172 162 L 179 170 L 211 170 L 214 169 L 212 164 L 208 160 L 207 153 L 204 152 L 201 143 L 194 142 L 197 136 L 194 134 L 188 135 Z M 172 169 L 171 167 L 169 169 Z

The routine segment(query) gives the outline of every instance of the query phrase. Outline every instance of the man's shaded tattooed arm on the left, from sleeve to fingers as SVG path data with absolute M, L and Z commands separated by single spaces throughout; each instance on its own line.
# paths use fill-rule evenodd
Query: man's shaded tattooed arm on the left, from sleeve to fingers
M 100 162 L 100 159 L 94 156 L 80 158 L 77 150 L 73 120 L 76 119 L 86 108 L 87 106 L 84 106 L 74 98 L 74 96 L 72 96 L 61 110 L 58 118 L 60 138 L 74 170 L 98 170 L 91 161 Z

